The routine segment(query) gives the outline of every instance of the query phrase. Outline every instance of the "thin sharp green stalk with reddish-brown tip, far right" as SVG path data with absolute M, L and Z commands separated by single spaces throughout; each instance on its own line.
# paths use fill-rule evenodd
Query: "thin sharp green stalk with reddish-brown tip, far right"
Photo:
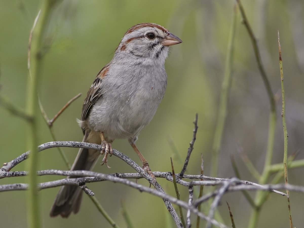
M 284 164 L 285 184 L 288 184 L 288 172 L 287 172 L 288 133 L 287 133 L 287 127 L 286 127 L 285 89 L 284 89 L 284 80 L 283 80 L 283 63 L 282 63 L 282 53 L 281 53 L 279 31 L 278 31 L 278 44 L 279 44 L 279 64 L 280 64 L 281 87 L 282 87 L 282 123 L 283 123 L 283 132 L 284 132 L 284 159 L 283 159 L 283 164 Z M 290 228 L 293 228 L 288 189 L 286 189 L 286 195 L 287 195 L 287 204 L 288 204 L 288 214 L 289 214 Z

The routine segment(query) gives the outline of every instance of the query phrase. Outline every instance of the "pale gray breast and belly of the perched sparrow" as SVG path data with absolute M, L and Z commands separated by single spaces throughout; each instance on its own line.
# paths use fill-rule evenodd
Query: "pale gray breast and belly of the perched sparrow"
M 113 66 L 112 66 L 113 67 Z M 102 79 L 102 96 L 95 102 L 88 125 L 110 139 L 133 138 L 153 118 L 167 86 L 164 66 L 114 66 Z

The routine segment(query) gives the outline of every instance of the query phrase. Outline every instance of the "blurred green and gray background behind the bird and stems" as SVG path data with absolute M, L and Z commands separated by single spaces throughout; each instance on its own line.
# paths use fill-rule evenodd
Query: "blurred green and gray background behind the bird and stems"
M 80 118 L 85 95 L 100 69 L 107 64 L 123 34 L 134 24 L 154 22 L 170 30 L 183 40 L 172 48 L 166 61 L 168 87 L 151 123 L 140 133 L 137 147 L 149 161 L 152 171 L 171 171 L 170 157 L 179 171 L 192 138 L 192 121 L 199 113 L 199 131 L 186 174 L 200 174 L 201 154 L 204 174 L 210 175 L 211 148 L 218 114 L 219 95 L 224 74 L 227 43 L 233 15 L 234 1 L 74 1 L 64 0 L 57 5 L 49 21 L 45 42 L 49 50 L 45 56 L 39 95 L 51 119 L 72 97 L 78 98 L 54 123 L 57 140 L 81 141 L 82 132 L 76 123 Z M 272 91 L 277 96 L 277 127 L 273 163 L 283 161 L 283 130 L 281 119 L 281 81 L 278 64 L 277 32 L 280 31 L 286 118 L 289 134 L 289 154 L 299 151 L 303 159 L 304 147 L 304 2 L 298 0 L 243 1 L 248 20 L 258 39 L 261 58 Z M 30 29 L 39 11 L 38 0 L 0 1 L 0 93 L 14 104 L 25 107 L 27 46 Z M 249 36 L 237 21 L 233 79 L 229 95 L 228 113 L 219 159 L 219 177 L 234 176 L 230 156 L 233 155 L 242 179 L 256 180 L 247 171 L 237 150 L 240 147 L 261 173 L 264 166 L 268 136 L 270 105 L 254 58 Z M 0 106 L 1 163 L 26 152 L 27 124 Z M 40 144 L 52 141 L 41 117 Z M 173 154 L 170 143 L 177 148 Z M 113 147 L 140 164 L 126 140 L 116 140 Z M 72 162 L 77 149 L 65 148 Z M 39 153 L 39 169 L 66 169 L 57 149 Z M 12 171 L 25 170 L 24 161 Z M 109 159 L 111 169 L 97 165 L 94 171 L 103 173 L 133 172 L 116 157 Z M 304 185 L 304 168 L 290 169 L 289 182 Z M 39 177 L 39 181 L 58 177 Z M 0 184 L 21 183 L 25 178 L 5 178 Z M 165 191 L 174 195 L 173 184 L 158 178 Z M 283 180 L 282 180 L 283 182 Z M 139 180 L 148 186 L 147 181 Z M 161 199 L 120 184 L 100 182 L 88 184 L 102 202 L 109 215 L 121 227 L 124 201 L 134 227 L 170 227 L 172 223 Z M 40 192 L 43 227 L 109 227 L 84 197 L 81 210 L 69 219 L 50 218 L 49 210 L 59 188 Z M 181 199 L 188 201 L 188 189 L 180 188 Z M 208 188 L 204 188 L 208 191 Z M 198 188 L 195 188 L 198 195 Z M 254 192 L 250 192 L 254 196 Z M 2 192 L 0 202 L 1 225 L 26 227 L 26 192 Z M 219 211 L 230 226 L 230 204 L 237 227 L 246 227 L 252 209 L 240 192 L 226 194 Z M 304 224 L 304 195 L 290 193 L 293 223 Z M 18 218 L 18 219 L 17 219 Z M 195 216 L 192 216 L 193 223 Z M 202 223 L 203 224 L 203 223 Z M 271 194 L 262 208 L 258 227 L 288 227 L 287 202 L 282 196 Z M 174 226 L 173 226 L 174 227 Z M 202 226 L 203 227 L 203 226 Z

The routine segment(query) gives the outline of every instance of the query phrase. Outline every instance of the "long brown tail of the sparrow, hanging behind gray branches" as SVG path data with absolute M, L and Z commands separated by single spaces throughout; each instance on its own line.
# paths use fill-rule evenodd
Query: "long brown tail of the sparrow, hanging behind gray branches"
M 98 134 L 93 134 L 92 131 L 90 134 L 85 132 L 82 141 L 100 144 L 101 139 Z M 92 170 L 99 155 L 100 152 L 98 150 L 80 148 L 71 170 Z M 76 176 L 69 176 L 68 178 L 76 178 Z M 80 209 L 82 192 L 81 188 L 75 185 L 61 186 L 51 208 L 50 216 L 60 215 L 63 218 L 67 218 L 71 212 L 76 214 Z

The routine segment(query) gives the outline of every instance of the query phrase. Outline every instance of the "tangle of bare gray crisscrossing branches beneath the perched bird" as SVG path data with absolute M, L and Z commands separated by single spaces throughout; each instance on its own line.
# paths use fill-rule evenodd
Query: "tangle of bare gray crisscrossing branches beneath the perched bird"
M 96 150 L 101 150 L 101 146 L 98 144 L 92 144 L 92 143 L 83 143 L 83 142 L 73 142 L 73 141 L 56 141 L 56 142 L 49 142 L 49 143 L 44 143 L 38 147 L 39 151 L 48 149 L 48 148 L 53 148 L 53 147 L 75 147 L 75 148 L 92 148 Z M 15 158 L 14 160 L 5 163 L 2 168 L 0 168 L 0 178 L 4 177 L 15 177 L 15 176 L 25 176 L 28 175 L 28 172 L 26 171 L 9 171 L 13 167 L 15 167 L 17 164 L 20 162 L 26 160 L 29 155 L 29 151 L 20 155 L 19 157 Z M 183 186 L 189 187 L 189 189 L 193 188 L 195 185 L 222 185 L 222 187 L 219 190 L 216 190 L 212 192 L 212 194 L 207 194 L 204 195 L 203 197 L 197 199 L 197 200 L 189 200 L 189 203 L 181 201 L 176 199 L 175 197 L 172 197 L 170 195 L 166 195 L 164 193 L 164 190 L 161 188 L 161 186 L 157 183 L 155 189 L 150 189 L 148 187 L 145 187 L 143 185 L 139 185 L 134 183 L 133 181 L 128 180 L 129 178 L 146 178 L 150 183 L 153 184 L 153 179 L 145 173 L 134 161 L 132 161 L 129 157 L 124 155 L 123 153 L 114 150 L 113 154 L 116 157 L 119 157 L 123 161 L 125 161 L 127 164 L 132 166 L 138 173 L 126 173 L 126 174 L 102 174 L 102 173 L 96 173 L 92 171 L 60 171 L 60 170 L 44 170 L 44 171 L 38 171 L 37 175 L 64 175 L 64 176 L 81 176 L 81 178 L 65 178 L 62 180 L 57 180 L 57 181 L 49 181 L 45 183 L 40 183 L 39 188 L 44 189 L 44 188 L 50 188 L 50 187 L 57 187 L 61 185 L 78 185 L 80 186 L 85 193 L 92 195 L 94 194 L 90 189 L 88 189 L 85 186 L 85 183 L 88 182 L 96 182 L 96 181 L 112 181 L 112 182 L 118 182 L 122 183 L 125 185 L 128 185 L 130 187 L 136 188 L 141 192 L 148 192 L 150 194 L 156 195 L 158 197 L 161 197 L 164 199 L 166 206 L 169 211 L 171 211 L 171 215 L 174 218 L 175 222 L 177 222 L 178 215 L 176 214 L 174 208 L 171 205 L 171 202 L 179 205 L 185 209 L 188 210 L 188 212 L 192 212 L 195 215 L 200 216 L 202 219 L 205 219 L 208 223 L 214 224 L 219 227 L 226 227 L 223 224 L 218 223 L 213 219 L 213 212 L 209 213 L 209 216 L 206 216 L 199 212 L 197 210 L 197 206 L 205 202 L 207 199 L 216 196 L 214 199 L 214 204 L 212 204 L 212 209 L 215 210 L 219 200 L 223 196 L 225 192 L 230 192 L 230 191 L 239 191 L 239 190 L 264 190 L 264 191 L 273 191 L 276 193 L 279 193 L 281 195 L 285 195 L 283 192 L 278 192 L 276 190 L 273 190 L 273 187 L 271 185 L 258 185 L 255 183 L 252 183 L 250 181 L 240 181 L 237 178 L 233 179 L 223 179 L 223 178 L 213 178 L 213 177 L 207 177 L 204 175 L 183 175 L 182 178 L 190 178 L 190 179 L 204 179 L 203 181 L 183 181 L 179 177 L 179 174 L 176 174 L 176 183 L 181 184 Z M 172 173 L 171 172 L 154 172 L 154 175 L 157 178 L 166 178 L 169 181 L 173 181 Z M 304 187 L 299 187 L 299 186 L 293 186 L 293 185 L 276 185 L 275 187 L 281 188 L 281 189 L 292 189 L 295 191 L 300 191 L 304 192 Z M 27 184 L 12 184 L 12 185 L 0 185 L 0 191 L 11 191 L 11 190 L 26 190 L 28 188 Z M 174 212 L 172 212 L 172 209 Z M 176 218 L 177 216 L 177 218 Z M 177 220 L 176 220 L 177 219 Z M 182 227 L 182 226 L 178 226 Z

